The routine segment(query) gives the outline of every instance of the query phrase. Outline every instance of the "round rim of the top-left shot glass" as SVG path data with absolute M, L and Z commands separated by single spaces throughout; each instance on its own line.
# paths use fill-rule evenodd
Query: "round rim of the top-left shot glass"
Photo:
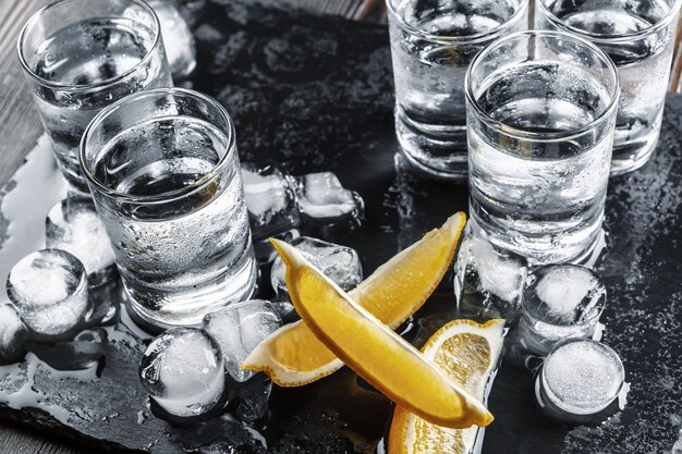
M 142 60 L 139 60 L 133 68 L 131 68 L 130 70 L 115 75 L 111 78 L 107 78 L 105 81 L 100 81 L 97 82 L 95 84 L 88 84 L 88 85 L 72 85 L 72 84 L 63 84 L 60 82 L 53 82 L 53 81 L 49 81 L 47 78 L 40 77 L 39 75 L 37 75 L 35 73 L 35 71 L 28 65 L 28 62 L 26 61 L 25 57 L 24 57 L 24 44 L 26 41 L 26 37 L 28 35 L 28 30 L 29 28 L 32 28 L 35 23 L 41 17 L 41 15 L 44 15 L 47 11 L 61 7 L 65 3 L 69 2 L 77 2 L 77 1 L 83 1 L 83 0 L 59 0 L 56 1 L 54 3 L 50 3 L 47 4 L 45 7 L 42 7 L 41 9 L 39 9 L 38 11 L 36 11 L 29 19 L 28 21 L 26 21 L 26 23 L 24 24 L 24 26 L 22 27 L 22 30 L 19 34 L 19 39 L 16 41 L 16 53 L 19 54 L 19 61 L 22 64 L 22 68 L 24 69 L 24 72 L 26 74 L 28 74 L 31 76 L 31 78 L 38 83 L 39 85 L 46 87 L 46 88 L 50 88 L 53 90 L 62 90 L 62 91 L 71 91 L 71 93 L 81 93 L 81 91 L 90 91 L 90 90 L 97 90 L 97 89 L 101 89 L 111 85 L 114 85 L 119 82 L 121 82 L 122 79 L 129 77 L 131 74 L 134 74 L 135 72 L 137 72 L 141 68 L 145 66 L 149 60 L 151 59 L 154 52 L 159 48 L 159 46 L 161 45 L 161 23 L 159 22 L 159 17 L 156 15 L 156 13 L 154 12 L 154 10 L 151 9 L 151 7 L 149 7 L 145 1 L 143 0 L 125 0 L 130 3 L 136 4 L 138 7 L 141 7 L 143 10 L 145 10 L 153 20 L 154 23 L 154 42 L 151 45 L 151 47 L 149 49 L 147 49 L 144 58 Z

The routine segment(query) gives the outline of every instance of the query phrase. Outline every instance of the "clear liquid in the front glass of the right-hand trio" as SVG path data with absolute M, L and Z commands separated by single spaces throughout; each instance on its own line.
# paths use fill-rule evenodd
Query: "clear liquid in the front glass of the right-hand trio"
M 561 133 L 592 123 L 610 99 L 585 71 L 536 61 L 502 70 L 478 103 L 492 119 L 527 133 Z M 596 244 L 612 134 L 533 143 L 468 132 L 471 217 L 494 244 L 534 265 L 577 259 Z

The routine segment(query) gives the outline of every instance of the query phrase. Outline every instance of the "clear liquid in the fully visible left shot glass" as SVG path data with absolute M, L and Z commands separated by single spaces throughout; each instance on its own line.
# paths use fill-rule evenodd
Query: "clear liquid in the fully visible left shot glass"
M 217 171 L 223 157 L 230 162 Z M 94 169 L 119 195 L 147 200 L 123 203 L 125 216 L 98 210 L 137 316 L 193 324 L 251 296 L 257 271 L 239 158 L 216 126 L 181 115 L 149 120 L 106 144 Z M 220 176 L 202 185 L 214 171 Z

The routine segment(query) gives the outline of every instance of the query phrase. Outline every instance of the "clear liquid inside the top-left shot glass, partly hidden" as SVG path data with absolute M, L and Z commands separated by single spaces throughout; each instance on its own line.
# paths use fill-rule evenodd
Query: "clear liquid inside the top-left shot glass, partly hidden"
M 88 191 L 78 145 L 90 120 L 129 94 L 172 86 L 165 64 L 155 59 L 133 72 L 153 48 L 154 37 L 151 29 L 131 19 L 92 19 L 62 28 L 38 48 L 33 72 L 57 86 L 38 86 L 34 97 L 58 164 L 81 192 Z M 108 84 L 126 73 L 121 83 Z

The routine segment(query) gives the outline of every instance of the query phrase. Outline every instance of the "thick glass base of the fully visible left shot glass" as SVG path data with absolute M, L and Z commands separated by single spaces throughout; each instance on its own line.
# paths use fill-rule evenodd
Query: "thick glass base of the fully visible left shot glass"
M 135 291 L 125 284 L 125 280 L 122 293 L 135 324 L 147 332 L 159 333 L 175 327 L 199 326 L 206 314 L 251 299 L 258 287 L 258 265 L 252 254 L 241 270 L 195 292 L 166 295 L 166 300 L 156 307 L 136 300 Z

